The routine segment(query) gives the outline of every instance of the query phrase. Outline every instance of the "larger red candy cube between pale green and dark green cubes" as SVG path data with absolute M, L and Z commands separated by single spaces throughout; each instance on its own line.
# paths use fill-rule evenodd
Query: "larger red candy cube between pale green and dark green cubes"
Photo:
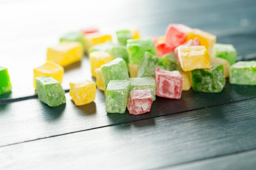
M 182 93 L 182 75 L 179 71 L 155 70 L 157 84 L 156 95 L 170 99 L 180 99 Z

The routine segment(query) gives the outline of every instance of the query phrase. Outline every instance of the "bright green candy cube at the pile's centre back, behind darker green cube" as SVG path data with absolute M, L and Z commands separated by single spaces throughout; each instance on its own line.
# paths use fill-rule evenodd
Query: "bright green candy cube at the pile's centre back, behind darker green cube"
M 146 51 L 156 55 L 157 51 L 152 39 L 127 41 L 127 52 L 130 63 L 139 64 Z

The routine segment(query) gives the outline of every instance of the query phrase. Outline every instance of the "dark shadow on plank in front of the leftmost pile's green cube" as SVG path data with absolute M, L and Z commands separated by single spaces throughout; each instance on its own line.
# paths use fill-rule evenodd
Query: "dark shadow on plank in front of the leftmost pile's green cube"
M 44 113 L 43 116 L 46 118 L 47 121 L 57 121 L 61 117 L 66 107 L 66 104 L 61 104 L 60 106 L 56 107 L 50 107 L 47 104 L 44 104 L 42 102 L 40 103 Z

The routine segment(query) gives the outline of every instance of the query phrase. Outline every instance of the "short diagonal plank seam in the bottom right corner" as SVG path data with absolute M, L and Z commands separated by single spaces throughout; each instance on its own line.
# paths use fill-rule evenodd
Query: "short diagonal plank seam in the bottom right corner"
M 210 159 L 215 159 L 215 158 L 227 157 L 227 156 L 236 155 L 236 154 L 245 153 L 245 152 L 252 152 L 254 150 L 256 150 L 256 148 L 240 150 L 240 151 L 236 151 L 236 152 L 232 152 L 232 153 L 228 153 L 228 154 L 224 154 L 224 155 L 216 155 L 214 157 L 207 157 L 207 158 L 197 159 L 197 160 L 188 161 L 188 162 L 184 162 L 184 163 L 177 163 L 177 164 L 171 165 L 171 166 L 162 166 L 162 167 L 147 169 L 147 170 L 160 170 L 163 168 L 175 168 L 175 167 L 181 166 L 181 165 L 186 165 L 186 164 L 190 164 L 190 163 L 195 163 L 195 162 L 200 162 L 200 161 L 205 161 L 205 160 L 210 160 Z

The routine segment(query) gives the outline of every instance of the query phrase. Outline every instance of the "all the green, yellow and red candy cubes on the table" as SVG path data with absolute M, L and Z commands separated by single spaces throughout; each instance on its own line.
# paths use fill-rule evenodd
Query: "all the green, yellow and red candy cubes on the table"
M 70 82 L 77 106 L 95 99 L 97 88 L 106 95 L 107 113 L 139 115 L 150 111 L 156 96 L 180 99 L 182 91 L 219 93 L 230 84 L 256 85 L 256 62 L 236 62 L 231 44 L 217 44 L 216 36 L 184 24 L 170 24 L 164 37 L 140 38 L 135 30 L 112 36 L 86 29 L 67 33 L 47 49 L 47 61 L 34 69 L 34 87 L 41 102 L 66 102 L 61 87 L 64 68 L 88 54 L 96 83 Z M 83 76 L 81 76 L 83 77 Z M 0 94 L 11 91 L 7 68 L 0 67 Z

